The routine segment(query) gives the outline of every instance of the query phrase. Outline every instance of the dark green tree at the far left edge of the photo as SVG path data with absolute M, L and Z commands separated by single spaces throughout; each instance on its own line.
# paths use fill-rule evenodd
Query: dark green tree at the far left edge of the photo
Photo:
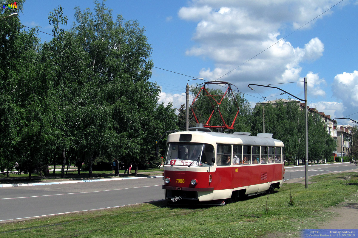
M 22 11 L 24 1 L 18 1 Z M 13 11 L 4 11 L 1 17 Z M 18 162 L 31 174 L 42 172 L 43 156 L 50 137 L 47 111 L 47 88 L 36 77 L 39 62 L 39 39 L 35 30 L 25 31 L 17 17 L 0 22 L 1 143 L 0 158 L 7 164 Z

